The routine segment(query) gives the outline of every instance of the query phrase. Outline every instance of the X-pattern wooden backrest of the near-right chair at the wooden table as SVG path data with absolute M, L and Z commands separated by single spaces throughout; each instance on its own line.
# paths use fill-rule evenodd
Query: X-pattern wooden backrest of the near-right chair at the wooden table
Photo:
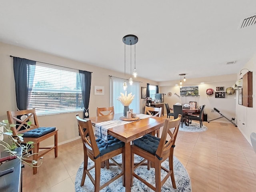
M 179 114 L 178 117 L 174 120 L 166 119 L 164 121 L 162 136 L 160 138 L 160 142 L 156 150 L 156 155 L 158 157 L 163 158 L 165 155 L 169 156 L 170 152 L 173 152 L 170 150 L 173 150 L 173 146 L 175 144 L 179 126 L 180 126 L 180 120 L 181 120 L 181 114 Z M 170 130 L 172 128 L 174 128 L 173 132 Z M 169 134 L 170 136 L 170 139 L 168 140 L 168 142 L 166 142 L 167 134 Z

